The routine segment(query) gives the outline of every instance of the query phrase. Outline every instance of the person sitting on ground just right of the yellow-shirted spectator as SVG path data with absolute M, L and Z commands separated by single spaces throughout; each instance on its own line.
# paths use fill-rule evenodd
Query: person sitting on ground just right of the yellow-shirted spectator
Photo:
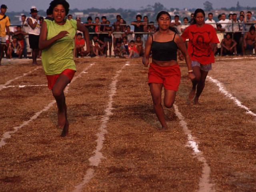
M 8 58 L 22 58 L 23 48 L 18 42 L 17 36 L 12 36 L 12 42 L 9 43 L 7 55 Z

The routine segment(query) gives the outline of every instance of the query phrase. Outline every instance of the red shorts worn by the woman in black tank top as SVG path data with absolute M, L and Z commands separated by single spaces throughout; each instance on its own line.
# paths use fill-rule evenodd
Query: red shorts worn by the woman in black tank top
M 151 63 L 148 70 L 148 84 L 161 83 L 167 90 L 178 91 L 180 85 L 180 66 L 178 64 L 168 67 Z

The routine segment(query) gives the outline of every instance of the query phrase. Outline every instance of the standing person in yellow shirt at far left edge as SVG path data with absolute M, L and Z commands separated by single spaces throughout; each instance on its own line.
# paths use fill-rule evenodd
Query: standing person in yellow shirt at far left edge
M 4 53 L 4 47 L 6 46 L 6 32 L 8 35 L 8 40 L 10 42 L 10 20 L 9 17 L 6 16 L 6 5 L 1 5 L 1 12 L 0 12 L 0 65 Z M 5 31 L 6 30 L 6 31 Z

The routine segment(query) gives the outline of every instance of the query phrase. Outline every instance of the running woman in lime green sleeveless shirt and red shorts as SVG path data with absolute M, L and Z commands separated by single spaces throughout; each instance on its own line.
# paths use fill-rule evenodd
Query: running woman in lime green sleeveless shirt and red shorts
M 64 89 L 71 82 L 75 72 L 74 38 L 76 30 L 84 33 L 86 53 L 90 53 L 89 33 L 76 20 L 67 20 L 69 4 L 66 0 L 53 0 L 49 7 L 54 20 L 44 20 L 39 39 L 42 50 L 42 64 L 48 80 L 48 88 L 58 106 L 58 126 L 62 128 L 61 136 L 68 134 L 67 107 Z

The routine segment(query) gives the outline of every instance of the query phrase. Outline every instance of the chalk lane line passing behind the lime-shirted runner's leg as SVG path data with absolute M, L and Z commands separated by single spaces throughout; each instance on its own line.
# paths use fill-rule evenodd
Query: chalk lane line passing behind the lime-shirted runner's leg
M 82 72 L 80 72 L 80 74 L 78 76 L 75 76 L 72 80 L 72 82 L 74 82 L 77 78 L 80 78 L 82 76 L 82 74 L 84 72 L 86 72 L 91 66 L 93 66 L 93 64 L 90 64 L 88 67 L 86 67 Z M 71 82 L 71 83 L 72 83 Z M 71 84 L 70 83 L 70 84 Z M 69 86 L 70 84 L 68 84 L 68 86 L 66 87 L 65 89 L 65 93 L 68 92 L 68 89 L 69 89 Z M 44 107 L 43 110 L 39 111 L 39 112 L 36 112 L 36 114 L 34 114 L 34 116 L 32 116 L 28 121 L 24 121 L 20 126 L 17 126 L 17 127 L 14 127 L 13 131 L 7 131 L 3 134 L 2 138 L 1 138 L 1 141 L 0 141 L 0 148 L 4 145 L 6 145 L 7 143 L 5 142 L 6 139 L 9 139 L 11 138 L 12 134 L 14 134 L 15 132 L 17 132 L 20 128 L 28 125 L 30 122 L 32 122 L 33 120 L 35 120 L 36 118 L 38 118 L 38 116 L 40 116 L 40 114 L 42 114 L 42 112 L 46 112 L 48 111 L 52 106 L 53 104 L 55 103 L 55 100 L 52 100 L 47 106 Z

